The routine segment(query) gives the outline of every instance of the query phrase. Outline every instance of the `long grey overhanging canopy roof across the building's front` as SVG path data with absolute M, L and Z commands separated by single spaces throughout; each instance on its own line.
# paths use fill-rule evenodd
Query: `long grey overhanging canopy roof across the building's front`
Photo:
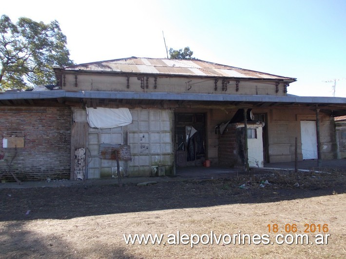
M 272 96 L 240 94 L 206 94 L 206 93 L 168 93 L 168 92 L 111 92 L 111 91 L 7 91 L 0 93 L 0 104 L 31 104 L 33 100 L 68 99 L 82 102 L 86 99 L 108 99 L 122 104 L 153 104 L 165 101 L 177 101 L 177 104 L 194 103 L 206 106 L 229 105 L 237 107 L 311 107 L 327 110 L 330 115 L 346 115 L 346 98 L 314 96 Z

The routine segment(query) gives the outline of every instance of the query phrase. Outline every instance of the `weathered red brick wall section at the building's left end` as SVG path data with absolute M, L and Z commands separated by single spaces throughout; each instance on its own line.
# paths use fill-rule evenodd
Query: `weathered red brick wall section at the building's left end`
M 0 175 L 15 156 L 11 169 L 20 180 L 70 178 L 70 108 L 0 107 L 0 136 Z M 2 148 L 4 137 L 24 137 L 24 148 Z M 0 179 L 13 181 L 6 173 Z

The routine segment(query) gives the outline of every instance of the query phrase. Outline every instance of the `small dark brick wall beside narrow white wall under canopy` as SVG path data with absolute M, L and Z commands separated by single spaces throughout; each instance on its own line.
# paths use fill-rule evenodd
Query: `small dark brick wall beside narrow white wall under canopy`
M 219 138 L 219 165 L 235 166 L 244 164 L 244 128 L 229 125 Z

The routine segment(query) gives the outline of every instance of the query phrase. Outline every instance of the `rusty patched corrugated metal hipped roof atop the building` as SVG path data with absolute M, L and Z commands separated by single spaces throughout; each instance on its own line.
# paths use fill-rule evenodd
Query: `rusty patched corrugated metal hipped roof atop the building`
M 134 74 L 165 74 L 183 76 L 232 77 L 253 79 L 281 79 L 295 81 L 295 78 L 246 70 L 197 59 L 169 59 L 130 57 L 98 61 L 65 67 L 64 70 Z

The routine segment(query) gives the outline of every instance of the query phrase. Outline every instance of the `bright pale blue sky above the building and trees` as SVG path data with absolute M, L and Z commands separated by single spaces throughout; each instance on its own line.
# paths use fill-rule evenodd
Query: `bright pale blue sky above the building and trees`
M 2 14 L 58 20 L 76 63 L 166 57 L 164 31 L 196 58 L 295 77 L 290 94 L 333 96 L 336 79 L 346 97 L 346 0 L 16 0 Z

